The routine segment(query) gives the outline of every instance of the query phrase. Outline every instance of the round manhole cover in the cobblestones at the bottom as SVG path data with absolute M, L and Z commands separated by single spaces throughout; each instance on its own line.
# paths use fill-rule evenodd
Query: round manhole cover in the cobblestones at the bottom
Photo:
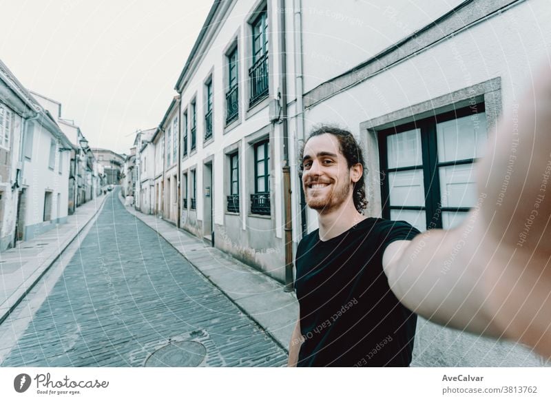
M 152 353 L 145 367 L 196 367 L 207 356 L 207 349 L 197 341 L 173 342 Z

